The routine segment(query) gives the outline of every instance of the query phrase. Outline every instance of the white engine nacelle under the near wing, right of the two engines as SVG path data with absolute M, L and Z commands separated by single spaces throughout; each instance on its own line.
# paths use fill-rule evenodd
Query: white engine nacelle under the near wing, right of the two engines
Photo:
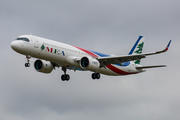
M 82 57 L 79 64 L 82 69 L 87 69 L 92 71 L 100 67 L 99 61 L 91 57 Z

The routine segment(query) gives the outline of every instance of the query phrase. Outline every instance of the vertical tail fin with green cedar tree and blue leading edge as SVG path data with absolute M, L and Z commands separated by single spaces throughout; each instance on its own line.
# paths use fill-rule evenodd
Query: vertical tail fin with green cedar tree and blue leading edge
M 133 48 L 129 52 L 129 55 L 135 55 L 135 54 L 141 54 L 143 50 L 143 45 L 144 45 L 144 37 L 139 36 L 138 40 L 134 44 Z M 135 64 L 140 64 L 139 60 L 134 61 Z

